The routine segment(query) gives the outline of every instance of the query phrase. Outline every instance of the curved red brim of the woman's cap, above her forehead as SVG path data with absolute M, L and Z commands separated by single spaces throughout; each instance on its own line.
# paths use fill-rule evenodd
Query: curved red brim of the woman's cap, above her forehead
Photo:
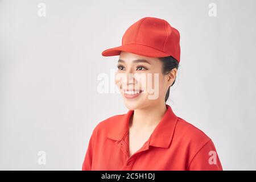
M 117 56 L 120 55 L 121 51 L 135 53 L 141 56 L 148 57 L 167 57 L 170 56 L 163 51 L 154 49 L 152 47 L 143 46 L 139 44 L 125 44 L 123 46 L 118 46 L 110 49 L 106 49 L 101 53 L 102 56 Z

